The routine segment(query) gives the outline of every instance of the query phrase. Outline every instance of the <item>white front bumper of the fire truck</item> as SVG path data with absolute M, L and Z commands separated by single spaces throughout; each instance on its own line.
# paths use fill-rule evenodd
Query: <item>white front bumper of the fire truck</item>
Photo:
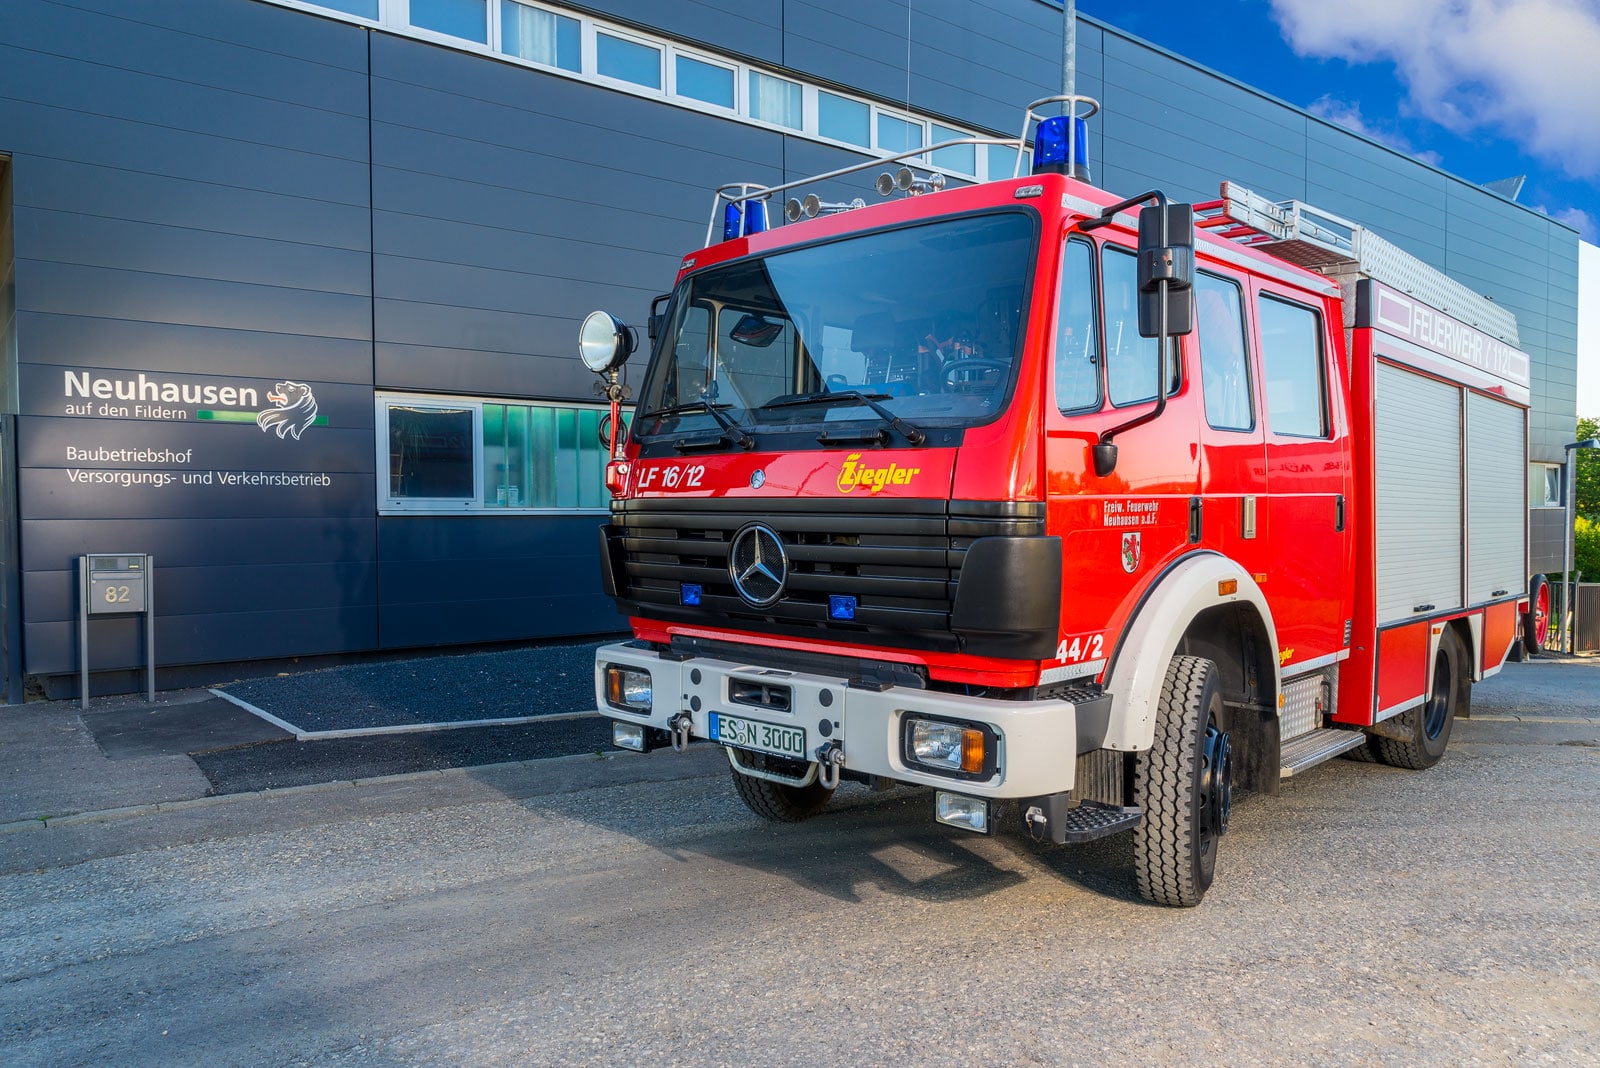
M 650 671 L 650 711 L 618 708 L 606 700 L 606 665 Z M 733 687 L 750 686 L 787 687 L 789 708 L 731 700 Z M 698 739 L 710 739 L 712 713 L 798 727 L 805 731 L 805 753 L 811 759 L 818 748 L 837 742 L 843 747 L 845 771 L 981 798 L 1034 798 L 1070 790 L 1077 756 L 1099 748 L 1110 707 L 1104 695 L 1083 702 L 994 700 L 909 686 L 853 687 L 845 676 L 784 671 L 755 660 L 664 659 L 629 643 L 597 651 L 595 702 L 602 715 L 659 731 L 686 715 L 690 734 Z M 973 780 L 907 764 L 901 755 L 901 723 L 906 715 L 918 713 L 987 724 L 998 737 L 994 774 Z

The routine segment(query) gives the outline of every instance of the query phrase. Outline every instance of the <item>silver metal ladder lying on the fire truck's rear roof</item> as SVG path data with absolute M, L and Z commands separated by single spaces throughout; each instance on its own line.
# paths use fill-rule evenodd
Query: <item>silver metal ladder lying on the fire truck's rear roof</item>
M 1195 205 L 1195 227 L 1261 248 L 1333 278 L 1365 277 L 1517 347 L 1517 317 L 1397 245 L 1299 200 L 1282 203 L 1222 182 L 1222 198 Z

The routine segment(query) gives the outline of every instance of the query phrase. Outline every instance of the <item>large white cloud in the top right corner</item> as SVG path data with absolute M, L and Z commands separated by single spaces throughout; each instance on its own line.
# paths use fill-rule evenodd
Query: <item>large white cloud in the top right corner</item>
M 1422 117 L 1600 177 L 1600 0 L 1272 0 L 1302 56 L 1394 62 Z

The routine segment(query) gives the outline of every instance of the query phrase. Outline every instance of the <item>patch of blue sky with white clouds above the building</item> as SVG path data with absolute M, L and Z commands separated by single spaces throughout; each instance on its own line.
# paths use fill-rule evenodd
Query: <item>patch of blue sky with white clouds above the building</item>
M 1600 0 L 1078 0 L 1600 240 Z

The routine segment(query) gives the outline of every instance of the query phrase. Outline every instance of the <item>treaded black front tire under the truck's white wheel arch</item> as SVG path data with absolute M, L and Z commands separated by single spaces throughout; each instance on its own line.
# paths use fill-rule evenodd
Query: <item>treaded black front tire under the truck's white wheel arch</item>
M 1232 803 L 1232 747 L 1221 731 L 1218 670 L 1203 657 L 1173 657 L 1162 684 L 1155 740 L 1134 774 L 1144 822 L 1133 833 L 1139 894 L 1192 908 L 1216 871 L 1216 844 Z

